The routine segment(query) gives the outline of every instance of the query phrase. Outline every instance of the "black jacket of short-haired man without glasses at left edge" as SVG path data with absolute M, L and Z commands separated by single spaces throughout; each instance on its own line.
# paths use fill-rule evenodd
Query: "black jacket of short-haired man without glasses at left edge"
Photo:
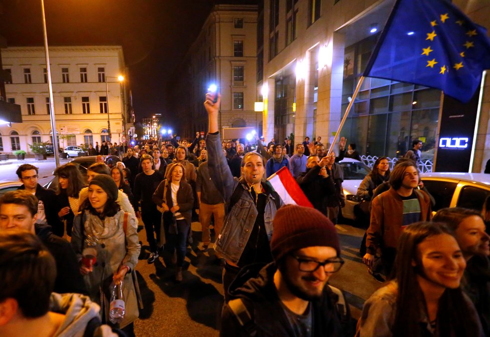
M 53 234 L 48 225 L 36 224 L 36 235 L 43 241 L 56 261 L 54 292 L 86 294 L 87 289 L 80 273 L 77 256 L 68 241 Z

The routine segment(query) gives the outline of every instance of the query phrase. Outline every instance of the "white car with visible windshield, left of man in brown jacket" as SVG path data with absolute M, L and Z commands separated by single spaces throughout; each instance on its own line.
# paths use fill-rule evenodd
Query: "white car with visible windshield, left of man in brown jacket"
M 345 206 L 342 207 L 342 216 L 354 220 L 354 206 L 359 203 L 357 188 L 364 177 L 371 172 L 371 169 L 363 162 L 351 158 L 344 158 L 339 164 L 344 170 L 342 187 L 345 195 Z

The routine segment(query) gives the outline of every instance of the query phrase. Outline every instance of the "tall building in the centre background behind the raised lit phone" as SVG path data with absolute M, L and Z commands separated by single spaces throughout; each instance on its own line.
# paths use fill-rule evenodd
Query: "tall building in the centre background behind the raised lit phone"
M 175 74 L 169 88 L 169 100 L 173 102 L 170 106 L 175 110 L 167 114 L 179 116 L 181 136 L 195 137 L 195 132 L 207 131 L 207 114 L 202 102 L 211 84 L 221 93 L 220 129 L 262 129 L 262 115 L 254 110 L 257 6 L 214 6 Z M 179 101 L 172 101 L 176 99 Z

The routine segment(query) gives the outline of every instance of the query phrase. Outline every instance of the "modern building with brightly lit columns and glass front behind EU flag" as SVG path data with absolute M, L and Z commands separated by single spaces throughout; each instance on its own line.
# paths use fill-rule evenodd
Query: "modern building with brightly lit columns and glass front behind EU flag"
M 267 140 L 294 134 L 296 143 L 318 136 L 329 145 L 352 99 L 394 0 L 264 0 L 258 32 L 257 97 L 265 91 Z M 452 1 L 472 21 L 490 27 L 483 0 Z M 262 27 L 261 27 L 262 26 Z M 260 37 L 259 37 L 260 39 Z M 261 47 L 263 45 L 263 47 Z M 490 158 L 490 82 L 483 82 L 470 170 Z M 366 78 L 341 131 L 361 154 L 397 157 L 421 139 L 427 159 L 437 154 L 441 91 Z M 471 135 L 473 136 L 473 135 Z M 434 158 L 435 159 L 435 158 Z M 482 164 L 483 163 L 483 164 Z

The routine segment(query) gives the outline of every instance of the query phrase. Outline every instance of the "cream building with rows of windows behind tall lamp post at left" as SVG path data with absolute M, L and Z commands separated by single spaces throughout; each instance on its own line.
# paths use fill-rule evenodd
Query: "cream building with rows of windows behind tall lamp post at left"
M 131 130 L 134 134 L 121 46 L 60 46 L 49 52 L 60 148 L 95 146 L 103 140 L 120 143 Z M 23 122 L 0 125 L 0 151 L 29 152 L 29 144 L 53 142 L 44 48 L 2 49 L 2 64 L 12 75 L 5 84 L 7 101 L 21 106 Z

